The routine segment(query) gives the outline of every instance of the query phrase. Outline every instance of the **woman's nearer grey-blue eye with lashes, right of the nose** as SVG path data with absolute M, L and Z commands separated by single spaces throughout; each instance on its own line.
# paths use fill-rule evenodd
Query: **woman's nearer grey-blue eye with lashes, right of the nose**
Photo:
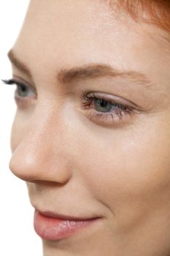
M 123 101 L 123 103 L 120 103 Z M 97 123 L 103 125 L 121 124 L 130 121 L 133 113 L 139 113 L 128 101 L 110 94 L 91 92 L 82 94 L 82 108 L 85 115 Z

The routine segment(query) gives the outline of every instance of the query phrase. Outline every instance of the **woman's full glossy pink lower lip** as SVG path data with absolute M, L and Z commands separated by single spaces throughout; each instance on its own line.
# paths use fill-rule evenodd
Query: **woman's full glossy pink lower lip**
M 34 213 L 34 229 L 42 239 L 56 241 L 59 239 L 67 238 L 83 230 L 85 227 L 90 226 L 96 219 L 89 220 L 66 220 L 46 217 L 35 211 Z

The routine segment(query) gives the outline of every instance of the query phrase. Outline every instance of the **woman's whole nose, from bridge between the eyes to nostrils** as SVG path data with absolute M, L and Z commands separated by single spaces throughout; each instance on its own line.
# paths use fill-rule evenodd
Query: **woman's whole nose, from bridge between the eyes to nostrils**
M 51 181 L 66 184 L 72 176 L 69 133 L 66 121 L 52 110 L 35 110 L 26 132 L 13 151 L 9 168 L 28 182 Z M 20 132 L 14 122 L 12 136 Z

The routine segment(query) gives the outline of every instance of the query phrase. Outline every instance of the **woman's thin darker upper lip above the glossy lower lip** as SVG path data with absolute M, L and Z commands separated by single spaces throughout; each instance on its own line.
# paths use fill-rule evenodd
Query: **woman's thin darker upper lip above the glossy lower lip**
M 39 211 L 39 210 L 36 210 L 36 211 Z M 42 214 L 45 217 L 70 220 L 70 221 L 88 221 L 88 220 L 93 220 L 93 219 L 99 218 L 99 217 L 74 217 L 74 216 L 69 216 L 69 215 L 58 214 L 53 211 L 39 211 L 39 214 Z

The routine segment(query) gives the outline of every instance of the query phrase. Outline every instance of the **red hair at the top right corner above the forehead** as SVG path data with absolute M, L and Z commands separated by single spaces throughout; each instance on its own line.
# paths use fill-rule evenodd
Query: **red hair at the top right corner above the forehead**
M 109 0 L 136 21 L 155 24 L 170 32 L 170 0 Z

